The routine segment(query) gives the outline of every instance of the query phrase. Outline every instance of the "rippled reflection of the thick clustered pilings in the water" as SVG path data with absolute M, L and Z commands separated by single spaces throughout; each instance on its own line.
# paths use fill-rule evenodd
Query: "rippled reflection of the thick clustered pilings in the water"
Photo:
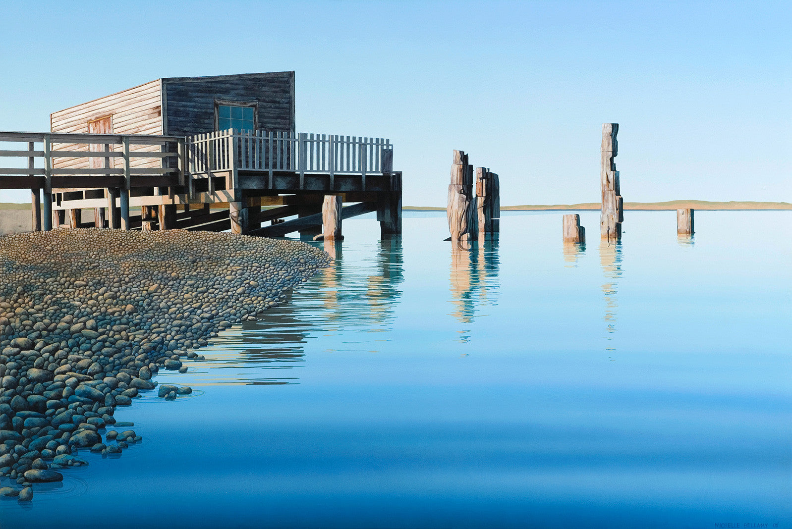
M 499 293 L 498 240 L 473 241 L 470 250 L 451 245 L 451 303 L 454 318 L 463 324 L 459 341 L 470 341 L 471 325 L 485 306 L 497 304 Z

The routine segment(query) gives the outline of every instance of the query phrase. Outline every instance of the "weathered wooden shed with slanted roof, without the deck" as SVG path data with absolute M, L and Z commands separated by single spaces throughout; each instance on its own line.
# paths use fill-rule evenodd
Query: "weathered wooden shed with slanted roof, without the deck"
M 162 78 L 50 114 L 50 130 L 76 134 L 192 136 L 230 128 L 295 132 L 295 73 Z M 59 144 L 61 150 L 100 145 Z M 158 147 L 132 147 L 153 151 Z M 119 150 L 110 147 L 110 150 Z M 120 160 L 111 159 L 111 167 Z M 104 167 L 102 158 L 55 158 L 56 168 Z M 137 158 L 132 167 L 158 167 Z

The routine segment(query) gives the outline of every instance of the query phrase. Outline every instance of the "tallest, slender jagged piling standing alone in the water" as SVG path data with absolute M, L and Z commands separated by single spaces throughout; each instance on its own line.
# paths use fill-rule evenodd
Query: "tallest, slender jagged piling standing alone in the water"
M 600 189 L 602 191 L 602 213 L 600 215 L 600 234 L 604 239 L 622 237 L 624 220 L 624 201 L 619 193 L 619 171 L 613 158 L 619 154 L 616 134 L 618 123 L 602 125 L 602 147 L 600 157 Z

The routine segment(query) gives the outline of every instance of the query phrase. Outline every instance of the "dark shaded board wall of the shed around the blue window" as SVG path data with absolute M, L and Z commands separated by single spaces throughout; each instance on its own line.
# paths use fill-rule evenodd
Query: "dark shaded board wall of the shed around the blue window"
M 295 73 L 163 78 L 167 135 L 215 131 L 215 100 L 257 104 L 257 130 L 295 132 Z

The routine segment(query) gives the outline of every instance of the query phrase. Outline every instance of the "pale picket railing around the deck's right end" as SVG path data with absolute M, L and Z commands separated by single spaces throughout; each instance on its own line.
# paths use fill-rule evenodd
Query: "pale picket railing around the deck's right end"
M 393 171 L 389 139 L 304 132 L 227 131 L 188 137 L 187 170 L 193 177 L 244 169 L 269 173 L 359 174 Z

